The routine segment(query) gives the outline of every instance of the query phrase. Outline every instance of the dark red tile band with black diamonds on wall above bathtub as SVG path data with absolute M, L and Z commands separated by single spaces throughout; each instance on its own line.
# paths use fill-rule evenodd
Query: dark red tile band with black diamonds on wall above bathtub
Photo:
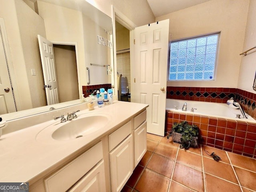
M 236 88 L 174 87 L 168 86 L 166 98 L 226 103 L 234 97 L 240 101 L 244 112 L 256 119 L 256 94 Z

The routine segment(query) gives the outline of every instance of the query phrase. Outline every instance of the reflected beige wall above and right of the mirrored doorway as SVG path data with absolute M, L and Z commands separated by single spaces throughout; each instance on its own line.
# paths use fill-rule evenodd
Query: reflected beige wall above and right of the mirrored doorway
M 44 19 L 46 38 L 50 41 L 77 42 L 80 80 L 86 85 L 82 13 L 38 1 L 39 15 Z

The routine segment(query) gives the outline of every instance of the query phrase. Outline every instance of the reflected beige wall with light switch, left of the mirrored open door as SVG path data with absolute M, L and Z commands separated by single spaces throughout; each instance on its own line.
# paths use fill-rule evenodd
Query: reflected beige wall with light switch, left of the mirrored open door
M 44 20 L 20 0 L 15 0 L 32 107 L 47 104 L 37 35 L 45 36 Z M 31 69 L 36 70 L 32 76 Z

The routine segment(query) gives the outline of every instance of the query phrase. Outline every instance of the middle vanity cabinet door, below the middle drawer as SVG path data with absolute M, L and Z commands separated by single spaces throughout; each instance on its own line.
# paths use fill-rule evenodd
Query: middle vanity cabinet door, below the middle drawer
M 133 171 L 132 135 L 109 154 L 112 192 L 120 192 Z

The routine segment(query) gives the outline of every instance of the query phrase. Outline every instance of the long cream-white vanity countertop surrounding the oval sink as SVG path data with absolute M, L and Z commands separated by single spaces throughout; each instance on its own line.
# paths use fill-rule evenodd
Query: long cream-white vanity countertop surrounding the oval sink
M 81 149 L 87 148 L 115 128 L 120 127 L 129 118 L 145 110 L 147 106 L 147 104 L 116 101 L 103 108 L 96 106 L 92 111 L 81 110 L 77 113 L 78 118 L 85 113 L 104 113 L 109 116 L 110 120 L 96 132 L 73 140 L 54 140 L 47 134 L 38 134 L 47 126 L 56 124 L 54 120 L 2 135 L 0 138 L 0 182 L 34 183 L 49 170 L 57 168 L 65 160 L 81 152 Z

